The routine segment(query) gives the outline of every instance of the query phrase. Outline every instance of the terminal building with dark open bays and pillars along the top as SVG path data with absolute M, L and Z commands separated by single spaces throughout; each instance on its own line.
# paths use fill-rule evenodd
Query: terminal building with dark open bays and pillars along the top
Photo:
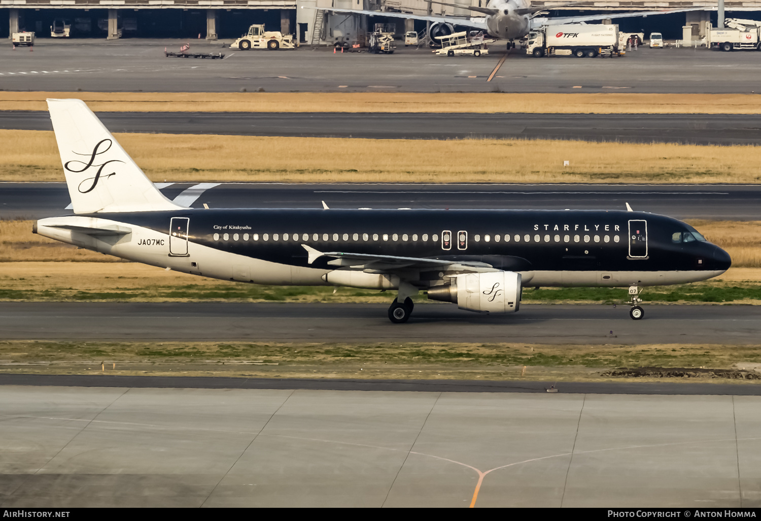
M 459 5 L 486 5 L 487 0 L 449 0 Z M 681 38 L 684 25 L 693 25 L 693 34 L 705 34 L 706 22 L 716 23 L 717 3 L 699 0 L 626 0 L 621 2 L 583 2 L 568 8 L 556 8 L 563 2 L 533 0 L 531 5 L 547 6 L 550 14 L 569 15 L 658 11 L 667 8 L 705 8 L 705 11 L 662 14 L 651 17 L 622 18 L 622 30 L 658 31 L 666 38 Z M 377 16 L 330 13 L 330 8 L 378 11 Z M 430 11 L 428 11 L 430 9 Z M 757 18 L 757 2 L 725 2 L 728 16 Z M 467 18 L 471 11 L 425 0 L 0 0 L 0 37 L 10 37 L 19 30 L 34 31 L 37 38 L 51 37 L 54 21 L 67 21 L 72 38 L 129 37 L 233 39 L 250 24 L 264 24 L 266 30 L 295 34 L 301 45 L 333 45 L 337 41 L 361 41 L 374 24 L 384 23 L 402 33 L 422 30 L 425 22 L 384 17 L 384 12 L 409 14 L 444 14 Z M 734 12 L 732 11 L 743 11 Z M 759 11 L 759 12 L 755 12 Z

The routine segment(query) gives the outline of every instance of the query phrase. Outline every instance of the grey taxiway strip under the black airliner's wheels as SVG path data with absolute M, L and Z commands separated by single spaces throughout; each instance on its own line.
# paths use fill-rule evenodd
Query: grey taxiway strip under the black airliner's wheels
M 761 338 L 761 308 L 752 305 L 645 302 L 645 318 L 633 321 L 627 305 L 521 305 L 520 312 L 498 317 L 454 305 L 420 303 L 406 324 L 392 324 L 387 308 L 375 304 L 0 302 L 0 321 L 7 340 L 757 344 Z

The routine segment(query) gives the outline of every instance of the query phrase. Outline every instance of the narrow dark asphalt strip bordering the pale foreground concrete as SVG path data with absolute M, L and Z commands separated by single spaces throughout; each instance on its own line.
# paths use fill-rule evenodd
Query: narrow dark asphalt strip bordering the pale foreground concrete
M 311 391 L 540 392 L 547 382 L 530 380 L 384 380 L 229 378 L 214 376 L 26 375 L 0 373 L 0 385 L 174 389 L 308 389 Z M 562 382 L 558 392 L 591 395 L 761 396 L 761 385 L 683 382 Z

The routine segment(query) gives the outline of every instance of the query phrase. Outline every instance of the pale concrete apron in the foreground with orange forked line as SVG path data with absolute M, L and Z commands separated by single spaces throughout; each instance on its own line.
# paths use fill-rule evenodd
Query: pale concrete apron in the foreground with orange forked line
M 759 507 L 761 398 L 0 386 L 0 507 Z

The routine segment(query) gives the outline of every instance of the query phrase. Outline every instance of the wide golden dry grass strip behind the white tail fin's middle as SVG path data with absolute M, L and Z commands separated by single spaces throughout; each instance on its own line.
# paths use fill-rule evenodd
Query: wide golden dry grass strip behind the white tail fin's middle
M 761 147 L 116 134 L 153 181 L 757 183 Z M 0 181 L 63 181 L 53 132 L 0 130 Z M 570 161 L 568 167 L 563 161 Z

